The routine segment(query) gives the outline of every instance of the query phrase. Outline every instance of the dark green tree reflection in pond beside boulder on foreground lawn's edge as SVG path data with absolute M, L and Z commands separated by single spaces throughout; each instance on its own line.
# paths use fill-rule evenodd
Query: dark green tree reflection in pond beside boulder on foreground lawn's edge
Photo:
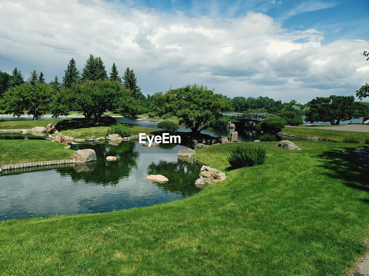
M 161 160 L 159 163 L 151 163 L 147 168 L 147 173 L 161 174 L 169 179 L 166 183 L 154 182 L 159 188 L 188 196 L 199 191 L 194 183 L 199 176 L 200 168 L 201 164 L 196 162 L 186 162 L 179 159 L 177 162 Z

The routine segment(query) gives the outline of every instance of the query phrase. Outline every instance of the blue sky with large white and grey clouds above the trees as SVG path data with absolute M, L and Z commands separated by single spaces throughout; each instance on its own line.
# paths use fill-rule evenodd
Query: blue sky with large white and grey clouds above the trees
M 89 54 L 142 92 L 186 84 L 306 103 L 369 82 L 367 0 L 0 0 L 0 70 L 62 79 Z

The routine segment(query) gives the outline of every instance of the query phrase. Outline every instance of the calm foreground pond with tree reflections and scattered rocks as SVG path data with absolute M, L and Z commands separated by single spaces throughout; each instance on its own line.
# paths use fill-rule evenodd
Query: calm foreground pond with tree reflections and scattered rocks
M 0 139 L 29 137 L 1 134 Z M 119 145 L 72 144 L 71 148 L 92 148 L 97 161 L 0 175 L 0 220 L 109 212 L 182 199 L 199 191 L 194 182 L 202 165 L 177 156 L 185 146 L 148 148 L 129 141 Z M 117 161 L 106 161 L 109 155 Z M 147 181 L 149 174 L 162 174 L 169 181 Z

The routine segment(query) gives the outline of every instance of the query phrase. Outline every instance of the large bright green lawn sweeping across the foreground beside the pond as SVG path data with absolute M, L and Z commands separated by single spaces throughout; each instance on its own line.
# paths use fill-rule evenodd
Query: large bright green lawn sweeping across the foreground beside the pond
M 236 170 L 237 144 L 198 149 L 227 179 L 187 199 L 0 222 L 0 275 L 346 276 L 368 251 L 367 178 L 341 154 L 358 145 L 296 144 Z

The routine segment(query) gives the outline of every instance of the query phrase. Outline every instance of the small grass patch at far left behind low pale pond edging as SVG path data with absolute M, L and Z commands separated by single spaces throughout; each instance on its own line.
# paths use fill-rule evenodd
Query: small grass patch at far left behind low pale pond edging
M 0 166 L 70 159 L 74 151 L 64 147 L 64 144 L 42 140 L 1 140 Z

